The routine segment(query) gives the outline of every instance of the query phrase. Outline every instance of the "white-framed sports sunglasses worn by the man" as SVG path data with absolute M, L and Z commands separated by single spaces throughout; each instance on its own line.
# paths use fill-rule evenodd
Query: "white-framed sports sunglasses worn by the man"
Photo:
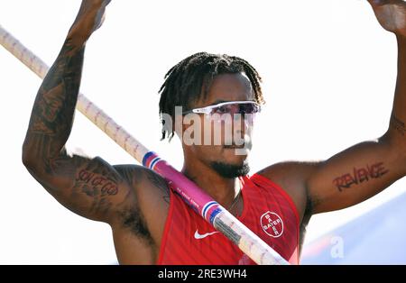
M 207 114 L 209 116 L 223 114 L 257 114 L 261 112 L 261 105 L 254 101 L 229 101 L 217 105 L 208 105 L 206 107 L 194 108 L 185 111 L 182 114 Z

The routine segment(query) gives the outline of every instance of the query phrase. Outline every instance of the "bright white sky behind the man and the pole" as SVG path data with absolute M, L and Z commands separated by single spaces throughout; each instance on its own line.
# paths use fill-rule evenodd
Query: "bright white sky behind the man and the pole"
M 0 25 L 51 66 L 79 5 L 0 0 Z M 254 129 L 252 173 L 284 160 L 326 160 L 387 130 L 396 41 L 366 1 L 113 0 L 106 12 L 88 41 L 80 90 L 177 169 L 180 142 L 160 142 L 158 90 L 169 68 L 198 51 L 242 57 L 263 78 L 267 103 Z M 115 263 L 109 226 L 71 213 L 23 167 L 41 80 L 0 48 L 0 82 L 0 263 Z M 82 114 L 68 148 L 138 164 Z M 313 216 L 306 242 L 405 191 L 403 178 L 360 205 Z

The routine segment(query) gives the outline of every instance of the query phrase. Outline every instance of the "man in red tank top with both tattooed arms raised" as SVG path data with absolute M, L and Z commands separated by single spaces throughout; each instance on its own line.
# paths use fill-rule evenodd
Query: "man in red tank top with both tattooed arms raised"
M 122 264 L 253 264 L 152 170 L 67 153 L 86 43 L 109 2 L 82 1 L 35 99 L 23 143 L 24 165 L 60 204 L 110 224 Z M 202 52 L 171 68 L 161 87 L 162 117 L 195 114 L 201 123 L 220 125 L 220 144 L 185 142 L 187 124 L 175 130 L 163 125 L 163 137 L 181 138 L 182 173 L 293 264 L 299 263 L 311 215 L 356 205 L 406 173 L 406 3 L 368 2 L 383 28 L 395 33 L 399 50 L 391 123 L 375 141 L 358 143 L 328 160 L 281 162 L 249 176 L 248 151 L 236 154 L 251 146 L 246 121 L 238 132 L 243 143 L 230 142 L 226 125 L 236 128 L 241 120 L 226 121 L 216 114 L 260 111 L 263 95 L 256 70 L 244 59 Z M 175 106 L 182 106 L 180 114 Z

